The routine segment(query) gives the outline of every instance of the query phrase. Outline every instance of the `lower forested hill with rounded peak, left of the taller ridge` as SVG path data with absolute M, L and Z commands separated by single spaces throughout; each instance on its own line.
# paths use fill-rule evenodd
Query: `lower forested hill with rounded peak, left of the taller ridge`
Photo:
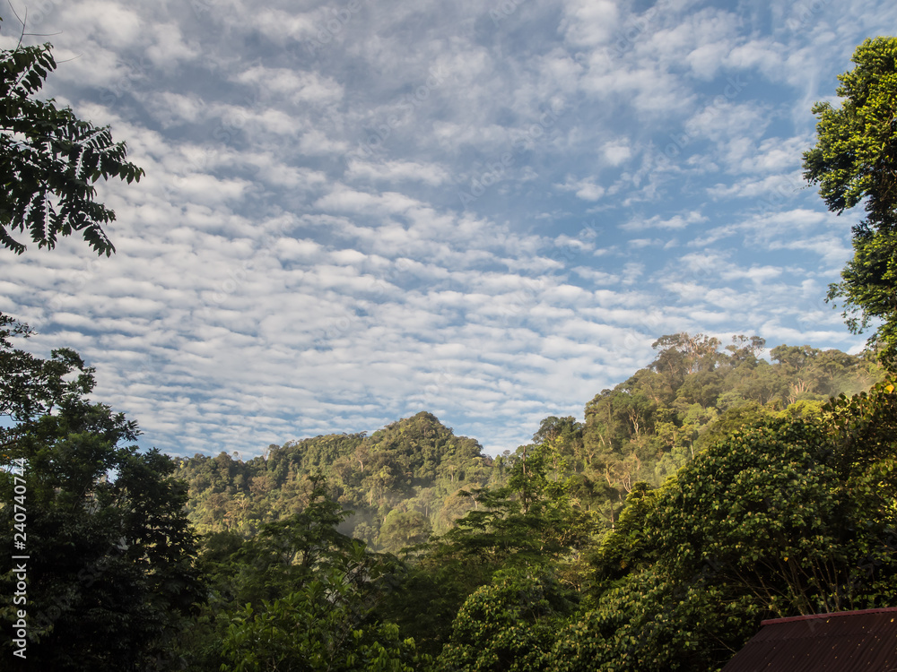
M 190 520 L 202 531 L 251 534 L 301 506 L 303 481 L 327 477 L 330 495 L 353 511 L 341 530 L 397 551 L 447 530 L 474 501 L 458 493 L 492 478 L 492 459 L 475 440 L 455 436 L 430 413 L 373 435 L 326 435 L 271 446 L 265 457 L 221 453 L 179 462 L 190 485 Z

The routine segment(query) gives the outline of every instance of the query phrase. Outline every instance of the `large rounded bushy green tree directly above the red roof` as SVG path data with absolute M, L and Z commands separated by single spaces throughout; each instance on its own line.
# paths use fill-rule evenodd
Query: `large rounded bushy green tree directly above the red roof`
M 712 446 L 648 516 L 675 573 L 710 565 L 776 616 L 888 603 L 893 456 L 842 445 L 821 423 L 776 418 Z

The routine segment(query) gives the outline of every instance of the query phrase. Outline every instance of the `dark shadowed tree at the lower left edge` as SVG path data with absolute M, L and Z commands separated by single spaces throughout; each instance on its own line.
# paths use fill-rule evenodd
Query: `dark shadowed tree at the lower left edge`
M 0 649 L 22 668 L 146 669 L 200 595 L 187 488 L 170 458 L 127 445 L 134 422 L 86 399 L 93 370 L 74 351 L 14 349 L 27 334 L 0 315 L 0 543 L 28 556 L 25 603 L 20 561 L 0 564 Z M 19 610 L 26 660 L 11 650 Z

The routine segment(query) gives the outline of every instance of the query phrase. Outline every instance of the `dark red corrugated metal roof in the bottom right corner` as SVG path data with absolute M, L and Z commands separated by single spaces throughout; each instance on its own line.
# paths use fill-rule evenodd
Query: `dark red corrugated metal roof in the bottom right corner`
M 762 622 L 723 672 L 893 672 L 897 607 Z

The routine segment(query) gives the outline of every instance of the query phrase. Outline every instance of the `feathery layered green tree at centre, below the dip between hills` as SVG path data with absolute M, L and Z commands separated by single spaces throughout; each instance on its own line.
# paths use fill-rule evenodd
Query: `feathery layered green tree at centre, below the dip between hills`
M 475 510 L 416 549 L 403 589 L 410 597 L 391 613 L 425 650 L 438 652 L 458 609 L 496 572 L 524 568 L 542 573 L 534 569 L 542 568 L 570 583 L 564 581 L 570 565 L 590 546 L 599 523 L 597 515 L 571 501 L 572 478 L 548 478 L 553 451 L 548 442 L 521 446 L 509 460 L 507 485 L 460 491 L 466 499 L 475 498 Z M 489 594 L 478 599 L 481 606 Z M 483 636 L 490 627 L 484 626 Z

